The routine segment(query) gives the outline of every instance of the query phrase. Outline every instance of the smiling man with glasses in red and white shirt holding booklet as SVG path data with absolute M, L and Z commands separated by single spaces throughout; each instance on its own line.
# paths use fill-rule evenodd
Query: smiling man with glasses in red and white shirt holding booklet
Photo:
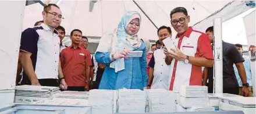
M 179 91 L 181 85 L 202 85 L 202 66 L 214 65 L 211 42 L 206 34 L 188 26 L 190 16 L 185 8 L 173 9 L 170 19 L 177 35 L 171 44 L 176 48 L 164 49 L 165 62 L 171 66 L 169 90 Z

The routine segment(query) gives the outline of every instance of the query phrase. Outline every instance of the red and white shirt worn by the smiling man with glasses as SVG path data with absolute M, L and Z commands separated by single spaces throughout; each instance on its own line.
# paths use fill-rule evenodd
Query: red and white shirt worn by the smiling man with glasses
M 214 59 L 209 37 L 200 31 L 193 30 L 192 27 L 189 27 L 182 35 L 177 34 L 173 41 L 185 55 Z M 171 71 L 172 79 L 169 89 L 172 91 L 179 91 L 181 85 L 202 85 L 201 66 L 186 64 L 173 59 Z

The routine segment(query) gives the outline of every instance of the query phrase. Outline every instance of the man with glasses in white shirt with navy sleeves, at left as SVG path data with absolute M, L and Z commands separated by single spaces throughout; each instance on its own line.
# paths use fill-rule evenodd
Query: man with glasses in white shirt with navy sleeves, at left
M 22 84 L 61 87 L 65 89 L 61 63 L 60 41 L 55 30 L 63 19 L 59 6 L 48 4 L 42 12 L 44 23 L 23 31 L 20 41 L 21 63 L 24 69 Z

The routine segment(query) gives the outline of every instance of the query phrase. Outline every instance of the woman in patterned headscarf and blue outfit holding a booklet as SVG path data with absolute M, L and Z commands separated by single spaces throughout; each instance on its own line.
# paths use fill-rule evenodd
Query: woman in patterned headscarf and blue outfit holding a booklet
M 99 42 L 95 59 L 106 64 L 99 89 L 140 89 L 147 87 L 145 44 L 137 37 L 141 17 L 138 12 L 127 12 L 118 28 L 104 35 Z M 126 58 L 130 51 L 143 51 L 141 57 Z

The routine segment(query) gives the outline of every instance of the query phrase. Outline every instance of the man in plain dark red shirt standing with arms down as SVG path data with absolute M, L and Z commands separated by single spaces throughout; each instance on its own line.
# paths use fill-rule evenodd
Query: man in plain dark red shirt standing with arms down
M 81 37 L 81 30 L 71 31 L 72 45 L 61 52 L 61 65 L 67 83 L 67 91 L 89 90 L 91 55 L 80 46 Z

